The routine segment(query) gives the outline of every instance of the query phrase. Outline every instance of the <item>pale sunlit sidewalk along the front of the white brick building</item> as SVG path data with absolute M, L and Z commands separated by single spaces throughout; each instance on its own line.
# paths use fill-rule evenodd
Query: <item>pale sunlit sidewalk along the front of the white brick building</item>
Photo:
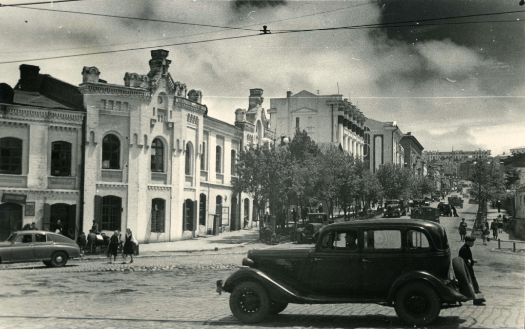
M 197 238 L 181 241 L 141 243 L 138 257 L 170 256 L 177 253 L 201 251 L 222 251 L 247 244 L 255 244 L 257 248 L 265 246 L 259 241 L 258 228 L 223 232 L 219 235 L 201 235 Z M 260 246 L 258 244 L 260 244 Z M 106 255 L 96 254 L 82 256 L 82 259 L 102 258 L 106 258 Z

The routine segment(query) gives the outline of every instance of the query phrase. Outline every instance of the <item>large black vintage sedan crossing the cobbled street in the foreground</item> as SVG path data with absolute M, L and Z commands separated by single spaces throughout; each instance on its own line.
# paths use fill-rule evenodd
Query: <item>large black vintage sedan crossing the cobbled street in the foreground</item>
M 313 248 L 251 250 L 243 265 L 217 289 L 231 294 L 230 310 L 245 323 L 288 303 L 377 303 L 422 326 L 475 297 L 465 263 L 451 260 L 445 229 L 429 221 L 330 224 Z

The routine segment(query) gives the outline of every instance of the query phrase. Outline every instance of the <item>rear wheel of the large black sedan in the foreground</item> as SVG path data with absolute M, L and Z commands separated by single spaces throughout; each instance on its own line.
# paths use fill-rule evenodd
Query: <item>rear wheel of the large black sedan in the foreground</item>
M 423 326 L 436 320 L 441 303 L 432 287 L 417 282 L 409 283 L 397 292 L 394 308 L 405 323 Z

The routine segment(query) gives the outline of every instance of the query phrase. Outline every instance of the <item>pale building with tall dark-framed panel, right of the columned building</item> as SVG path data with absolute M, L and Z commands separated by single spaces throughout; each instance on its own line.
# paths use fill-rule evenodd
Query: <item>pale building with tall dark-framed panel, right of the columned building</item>
M 384 163 L 394 163 L 403 167 L 404 149 L 401 145 L 403 132 L 395 122 L 365 120 L 364 159 L 370 163 L 370 171 L 375 172 Z

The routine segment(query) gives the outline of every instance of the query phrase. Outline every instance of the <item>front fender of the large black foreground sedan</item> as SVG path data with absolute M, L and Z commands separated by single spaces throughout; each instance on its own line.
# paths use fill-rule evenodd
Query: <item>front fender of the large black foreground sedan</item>
M 264 286 L 272 301 L 297 304 L 304 303 L 303 298 L 299 296 L 295 289 L 275 279 L 275 277 L 253 268 L 242 268 L 230 275 L 224 283 L 223 290 L 231 293 L 236 285 L 245 281 L 259 282 Z

